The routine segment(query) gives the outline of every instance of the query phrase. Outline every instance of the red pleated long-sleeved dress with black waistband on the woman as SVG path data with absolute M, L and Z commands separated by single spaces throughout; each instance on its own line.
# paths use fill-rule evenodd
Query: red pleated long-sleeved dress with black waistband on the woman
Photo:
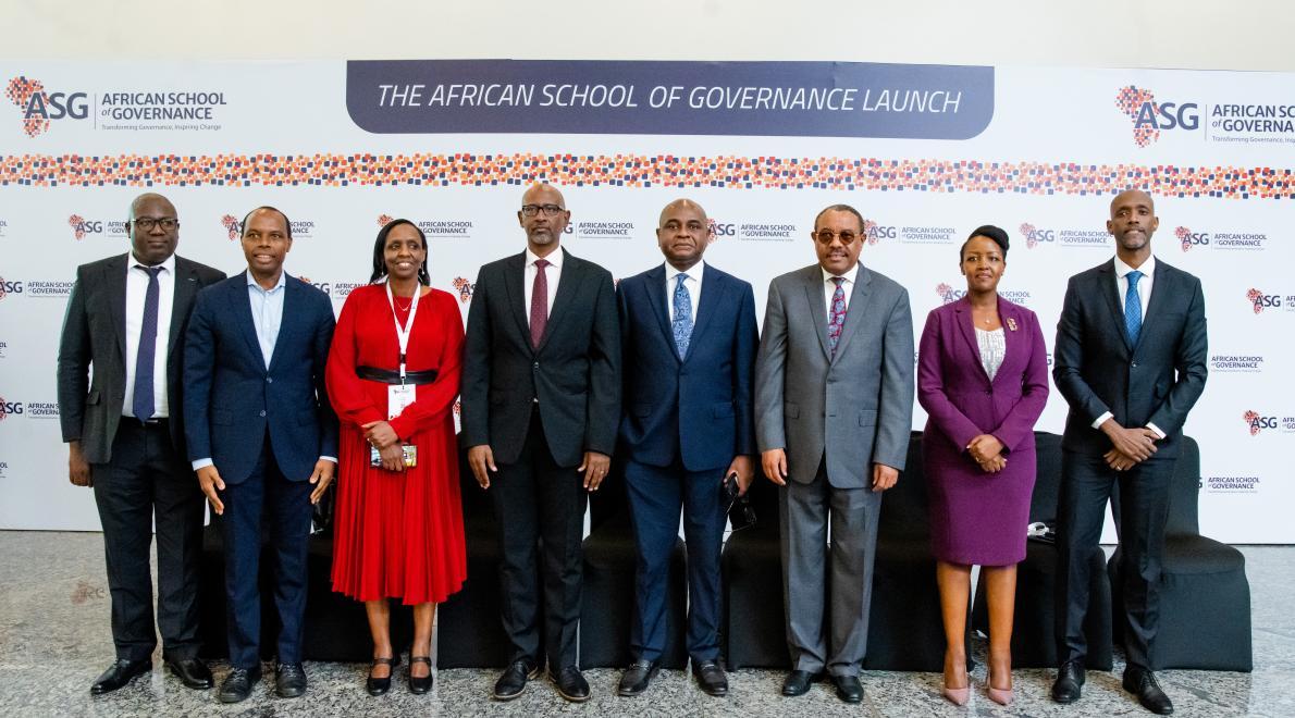
M 407 309 L 395 314 L 408 322 Z M 360 379 L 355 367 L 398 370 L 400 344 L 383 285 L 347 296 L 328 361 L 329 400 L 341 420 L 334 591 L 413 605 L 440 603 L 462 587 L 467 556 L 453 418 L 462 347 L 458 301 L 430 290 L 418 300 L 405 369 L 436 370 L 436 379 L 418 386 L 414 402 L 390 422 L 403 442 L 418 448 L 418 466 L 372 467 L 360 426 L 387 418 L 387 384 Z

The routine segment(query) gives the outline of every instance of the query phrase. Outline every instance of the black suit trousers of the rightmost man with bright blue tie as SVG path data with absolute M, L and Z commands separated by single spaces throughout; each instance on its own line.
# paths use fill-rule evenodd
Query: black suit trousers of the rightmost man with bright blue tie
M 1098 454 L 1064 451 L 1057 506 L 1057 657 L 1083 658 L 1089 571 L 1085 556 L 1102 536 L 1106 505 L 1119 483 L 1120 551 L 1124 556 L 1124 652 L 1129 664 L 1149 666 L 1160 618 L 1160 571 L 1168 520 L 1173 457 L 1156 457 L 1115 471 Z

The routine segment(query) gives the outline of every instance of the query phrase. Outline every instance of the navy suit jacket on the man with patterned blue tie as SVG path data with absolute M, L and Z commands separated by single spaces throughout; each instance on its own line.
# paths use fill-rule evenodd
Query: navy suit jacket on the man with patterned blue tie
M 688 471 L 702 471 L 755 453 L 755 295 L 747 282 L 703 268 L 682 360 L 670 323 L 664 265 L 616 287 L 625 405 L 620 439 L 636 462 L 670 466 L 679 457 Z

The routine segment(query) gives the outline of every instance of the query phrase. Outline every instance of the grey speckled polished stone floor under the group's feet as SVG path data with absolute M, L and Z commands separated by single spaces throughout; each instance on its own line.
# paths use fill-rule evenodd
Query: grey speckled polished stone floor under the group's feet
M 1162 684 L 1177 706 L 1176 715 L 1295 715 L 1295 547 L 1244 547 L 1254 611 L 1255 671 L 1211 673 L 1168 670 Z M 983 642 L 978 647 L 983 658 Z M 253 699 L 225 706 L 214 691 L 190 691 L 154 668 L 120 691 L 92 697 L 89 684 L 113 660 L 109 600 L 104 577 L 102 538 L 97 533 L 0 532 L 0 715 L 1150 715 L 1120 688 L 1116 671 L 1089 673 L 1079 704 L 1059 706 L 1048 699 L 1050 671 L 1014 673 L 1017 701 L 991 702 L 978 691 L 971 704 L 956 708 L 939 697 L 939 674 L 864 674 L 866 697 L 846 706 L 830 690 L 778 695 L 782 674 L 739 670 L 729 674 L 732 693 L 712 699 L 695 688 L 685 671 L 662 671 L 638 699 L 614 695 L 619 671 L 589 670 L 593 697 L 583 705 L 565 702 L 546 683 L 532 683 L 515 701 L 487 696 L 495 671 L 445 670 L 427 696 L 398 686 L 390 695 L 369 697 L 363 688 L 366 666 L 307 664 L 310 692 L 282 700 L 273 678 Z M 159 666 L 161 652 L 154 656 Z M 983 661 L 982 661 L 983 664 Z M 227 666 L 212 666 L 219 680 Z M 399 674 L 398 674 L 399 675 Z M 984 669 L 973 675 L 984 686 Z

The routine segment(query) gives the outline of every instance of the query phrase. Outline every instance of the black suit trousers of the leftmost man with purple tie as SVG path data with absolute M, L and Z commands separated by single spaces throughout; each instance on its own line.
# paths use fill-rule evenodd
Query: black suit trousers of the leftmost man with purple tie
M 203 498 L 166 422 L 144 426 L 123 417 L 113 439 L 113 459 L 92 464 L 91 476 L 104 525 L 117 657 L 144 660 L 157 647 L 149 567 L 154 521 L 163 652 L 175 660 L 197 656 Z

